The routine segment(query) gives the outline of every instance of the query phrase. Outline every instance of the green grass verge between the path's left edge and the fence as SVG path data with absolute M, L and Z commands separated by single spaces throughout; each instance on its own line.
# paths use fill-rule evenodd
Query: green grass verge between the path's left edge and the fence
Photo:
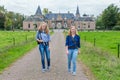
M 35 41 L 32 41 L 27 44 L 23 44 L 22 46 L 16 46 L 8 51 L 0 54 L 0 73 L 11 65 L 11 63 L 15 62 L 18 58 L 22 57 L 26 52 L 30 51 L 37 44 Z

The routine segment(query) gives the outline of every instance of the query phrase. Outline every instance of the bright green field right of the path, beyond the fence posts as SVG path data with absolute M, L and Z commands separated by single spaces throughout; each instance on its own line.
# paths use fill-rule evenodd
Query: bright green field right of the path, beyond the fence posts
M 79 32 L 82 40 L 94 44 L 94 38 L 96 38 L 96 47 L 101 48 L 109 53 L 117 56 L 118 43 L 120 43 L 120 32 Z

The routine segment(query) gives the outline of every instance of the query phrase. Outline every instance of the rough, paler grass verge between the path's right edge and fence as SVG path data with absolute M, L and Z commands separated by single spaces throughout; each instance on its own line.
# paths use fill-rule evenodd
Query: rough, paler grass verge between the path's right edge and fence
M 96 80 L 120 80 L 119 58 L 83 42 L 78 57 L 89 67 Z

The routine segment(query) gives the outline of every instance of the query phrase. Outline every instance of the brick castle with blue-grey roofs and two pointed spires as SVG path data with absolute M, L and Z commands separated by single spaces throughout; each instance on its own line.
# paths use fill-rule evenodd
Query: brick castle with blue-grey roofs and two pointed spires
M 35 30 L 43 21 L 48 23 L 49 28 L 64 29 L 75 25 L 80 30 L 95 30 L 94 18 L 86 14 L 81 17 L 78 6 L 75 15 L 70 12 L 59 12 L 48 13 L 45 16 L 42 15 L 41 8 L 38 6 L 35 15 L 31 15 L 23 21 L 23 30 Z

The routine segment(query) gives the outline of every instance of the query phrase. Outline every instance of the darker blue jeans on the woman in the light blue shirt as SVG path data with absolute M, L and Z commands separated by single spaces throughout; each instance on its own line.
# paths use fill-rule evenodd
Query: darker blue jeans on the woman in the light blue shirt
M 41 54 L 41 63 L 42 63 L 42 69 L 45 69 L 45 55 L 47 59 L 47 67 L 50 67 L 50 50 L 49 46 L 44 44 L 39 44 L 39 50 Z

